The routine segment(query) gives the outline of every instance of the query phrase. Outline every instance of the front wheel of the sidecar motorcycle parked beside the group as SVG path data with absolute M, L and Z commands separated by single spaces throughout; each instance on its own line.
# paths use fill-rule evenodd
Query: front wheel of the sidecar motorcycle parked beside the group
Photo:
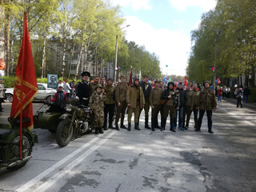
M 56 131 L 56 142 L 58 146 L 63 147 L 67 146 L 70 143 L 70 140 L 73 135 L 73 125 L 70 126 L 70 119 L 66 118 L 58 123 Z

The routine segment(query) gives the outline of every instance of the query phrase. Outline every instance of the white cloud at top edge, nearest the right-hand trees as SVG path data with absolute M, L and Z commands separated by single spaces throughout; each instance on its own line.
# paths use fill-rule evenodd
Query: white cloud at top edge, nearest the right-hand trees
M 200 6 L 202 10 L 208 11 L 214 9 L 216 0 L 169 0 L 172 6 L 177 10 L 186 10 L 188 6 Z

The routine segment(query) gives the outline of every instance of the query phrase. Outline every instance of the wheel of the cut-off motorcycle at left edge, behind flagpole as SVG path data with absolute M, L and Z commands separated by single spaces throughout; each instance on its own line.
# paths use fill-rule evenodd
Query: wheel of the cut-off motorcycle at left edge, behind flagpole
M 14 138 L 12 145 L 10 146 L 10 159 L 19 158 L 19 140 L 20 140 L 20 136 L 18 135 L 16 138 Z M 24 134 L 22 136 L 22 158 L 26 158 L 30 156 L 31 152 L 32 152 L 31 138 L 28 134 Z M 8 167 L 7 169 L 18 170 L 19 168 L 22 168 L 22 166 L 25 166 L 26 162 L 22 162 L 17 166 Z

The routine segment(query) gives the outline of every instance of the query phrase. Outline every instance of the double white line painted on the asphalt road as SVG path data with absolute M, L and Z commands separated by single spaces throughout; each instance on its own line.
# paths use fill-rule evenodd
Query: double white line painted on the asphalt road
M 59 166 L 62 166 L 62 164 L 64 164 L 65 162 L 69 161 L 70 158 L 73 158 L 76 154 L 80 153 L 87 146 L 90 146 L 92 143 L 94 143 L 94 142 L 96 142 L 98 140 L 101 140 L 96 145 L 91 147 L 89 150 L 86 150 L 86 152 L 84 154 L 82 154 L 81 156 L 76 158 L 74 160 L 74 162 L 71 162 L 70 165 L 64 167 L 63 170 L 58 172 L 58 174 L 55 174 L 52 178 L 50 178 L 50 182 L 48 182 L 49 180 L 47 182 L 45 182 L 45 181 L 42 182 L 42 185 L 39 186 L 39 188 L 37 188 L 36 191 L 39 191 L 39 189 L 41 189 L 40 191 L 44 191 L 44 190 L 48 189 L 55 182 L 57 182 L 59 178 L 61 178 L 64 174 L 68 173 L 68 171 L 70 171 L 74 166 L 77 166 L 79 162 L 82 162 L 82 160 L 84 158 L 86 158 L 89 154 L 91 154 L 99 146 L 102 146 L 102 144 L 104 142 L 106 142 L 109 138 L 111 138 L 116 133 L 117 133 L 117 131 L 112 131 L 110 134 L 106 135 L 105 138 L 97 137 L 97 138 L 92 139 L 90 142 L 87 142 L 85 145 L 81 146 L 78 150 L 75 150 L 72 154 L 69 154 L 68 156 L 66 156 L 66 158 L 63 158 L 61 161 L 59 161 L 56 164 L 54 164 L 54 166 L 51 166 L 49 169 L 47 169 L 44 172 L 42 172 L 42 174 L 39 174 L 37 177 L 35 177 L 32 180 L 30 180 L 30 182 L 27 182 L 26 184 L 24 184 L 23 186 L 19 187 L 18 190 L 15 190 L 15 191 L 22 192 L 22 191 L 28 190 L 31 186 L 34 186 L 34 185 L 38 184 L 38 182 L 40 182 L 40 180 L 42 178 L 46 177 L 47 174 L 50 174 L 52 171 L 56 170 Z

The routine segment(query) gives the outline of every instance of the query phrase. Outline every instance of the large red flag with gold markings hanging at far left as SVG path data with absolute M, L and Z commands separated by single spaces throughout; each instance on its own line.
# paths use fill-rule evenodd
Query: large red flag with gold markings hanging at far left
M 26 23 L 26 12 L 24 12 L 22 46 L 18 56 L 13 103 L 10 111 L 10 117 L 21 119 L 21 134 L 22 126 L 30 130 L 33 127 L 32 100 L 37 94 L 37 78 L 30 45 L 30 34 Z M 30 118 L 30 122 L 22 123 L 22 118 Z

